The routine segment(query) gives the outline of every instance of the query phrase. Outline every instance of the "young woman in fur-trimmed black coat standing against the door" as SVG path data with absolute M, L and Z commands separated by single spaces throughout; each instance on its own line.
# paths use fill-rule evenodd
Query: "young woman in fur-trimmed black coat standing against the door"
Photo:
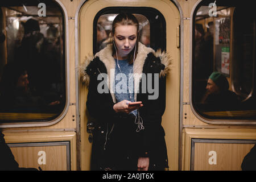
M 86 107 L 97 121 L 93 170 L 168 167 L 161 121 L 170 59 L 139 43 L 138 34 L 134 15 L 117 15 L 113 40 L 85 63 L 83 79 L 89 86 Z M 152 85 L 156 85 L 154 93 L 148 89 Z

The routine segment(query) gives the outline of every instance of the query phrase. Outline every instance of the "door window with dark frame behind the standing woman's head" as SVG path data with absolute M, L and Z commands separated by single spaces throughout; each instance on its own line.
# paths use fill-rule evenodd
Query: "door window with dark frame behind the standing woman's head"
M 93 53 L 109 43 L 112 23 L 119 13 L 131 13 L 138 19 L 141 43 L 155 50 L 166 50 L 166 24 L 158 10 L 149 7 L 107 7 L 94 18 Z

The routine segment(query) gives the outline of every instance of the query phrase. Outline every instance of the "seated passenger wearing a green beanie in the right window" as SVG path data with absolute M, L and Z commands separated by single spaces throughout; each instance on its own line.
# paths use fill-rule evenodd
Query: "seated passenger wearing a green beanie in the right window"
M 207 81 L 207 92 L 201 100 L 206 110 L 234 110 L 240 103 L 236 93 L 229 90 L 229 82 L 219 72 L 213 72 Z

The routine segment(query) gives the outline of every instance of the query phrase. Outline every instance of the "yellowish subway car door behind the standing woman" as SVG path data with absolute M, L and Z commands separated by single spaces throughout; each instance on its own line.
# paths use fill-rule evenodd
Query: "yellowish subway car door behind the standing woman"
M 88 55 L 94 55 L 102 47 L 101 40 L 107 39 L 114 16 L 122 13 L 134 14 L 141 24 L 141 42 L 157 50 L 165 50 L 172 59 L 172 68 L 167 76 L 166 110 L 162 125 L 166 133 L 166 143 L 170 170 L 178 169 L 179 159 L 179 96 L 180 96 L 180 14 L 171 1 L 86 1 L 77 13 L 77 41 L 79 67 Z M 98 31 L 101 36 L 97 36 Z M 104 47 L 104 45 L 103 45 Z M 91 144 L 93 136 L 86 110 L 88 89 L 79 82 L 79 106 L 81 124 L 81 169 L 90 169 Z M 89 123 L 90 125 L 90 123 Z

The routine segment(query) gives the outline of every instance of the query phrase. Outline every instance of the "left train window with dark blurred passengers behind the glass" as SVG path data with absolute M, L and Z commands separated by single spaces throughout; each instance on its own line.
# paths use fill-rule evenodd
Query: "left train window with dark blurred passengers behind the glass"
M 0 2 L 0 122 L 49 121 L 65 107 L 64 14 L 55 1 Z

